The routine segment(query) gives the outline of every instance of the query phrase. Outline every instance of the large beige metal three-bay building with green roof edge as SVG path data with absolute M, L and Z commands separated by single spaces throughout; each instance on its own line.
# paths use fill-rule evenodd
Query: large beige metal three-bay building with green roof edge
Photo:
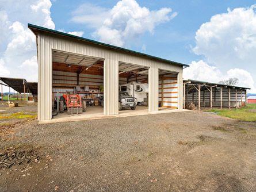
M 104 99 L 104 107 L 91 107 L 91 112 L 119 114 L 121 85 L 135 82 L 148 85 L 143 98 L 148 112 L 182 109 L 182 70 L 188 65 L 41 26 L 28 28 L 36 35 L 40 121 L 52 119 L 57 93 L 72 91 L 86 99 Z M 140 86 L 133 89 L 142 91 Z

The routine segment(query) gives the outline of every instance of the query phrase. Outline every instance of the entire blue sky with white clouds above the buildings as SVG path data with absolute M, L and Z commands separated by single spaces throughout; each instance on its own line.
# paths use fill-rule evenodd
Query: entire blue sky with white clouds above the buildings
M 0 76 L 37 81 L 28 23 L 189 64 L 184 78 L 238 78 L 256 93 L 254 0 L 0 0 Z

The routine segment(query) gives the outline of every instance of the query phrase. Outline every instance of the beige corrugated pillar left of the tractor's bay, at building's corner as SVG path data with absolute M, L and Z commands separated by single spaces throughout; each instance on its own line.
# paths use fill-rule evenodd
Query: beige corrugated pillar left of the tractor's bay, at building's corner
M 52 118 L 52 49 L 49 39 L 38 36 L 38 120 Z

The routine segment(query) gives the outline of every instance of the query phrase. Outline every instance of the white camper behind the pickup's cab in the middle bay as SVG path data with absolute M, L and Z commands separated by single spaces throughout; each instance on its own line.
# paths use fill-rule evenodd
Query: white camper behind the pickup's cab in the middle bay
M 127 91 L 129 95 L 137 98 L 137 105 L 147 105 L 148 84 L 131 82 L 119 85 L 120 91 Z

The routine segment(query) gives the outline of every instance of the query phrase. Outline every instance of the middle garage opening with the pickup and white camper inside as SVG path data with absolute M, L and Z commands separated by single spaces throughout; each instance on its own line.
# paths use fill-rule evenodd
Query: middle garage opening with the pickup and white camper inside
M 119 62 L 119 113 L 148 112 L 148 68 Z

